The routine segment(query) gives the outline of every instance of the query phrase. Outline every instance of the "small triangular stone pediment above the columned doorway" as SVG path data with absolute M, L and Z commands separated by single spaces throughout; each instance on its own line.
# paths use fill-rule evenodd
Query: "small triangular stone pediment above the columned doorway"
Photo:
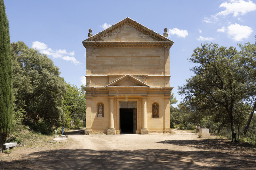
M 124 77 L 117 79 L 116 81 L 106 85 L 106 87 L 150 87 L 149 85 L 143 83 L 137 78 L 132 77 L 127 74 Z

